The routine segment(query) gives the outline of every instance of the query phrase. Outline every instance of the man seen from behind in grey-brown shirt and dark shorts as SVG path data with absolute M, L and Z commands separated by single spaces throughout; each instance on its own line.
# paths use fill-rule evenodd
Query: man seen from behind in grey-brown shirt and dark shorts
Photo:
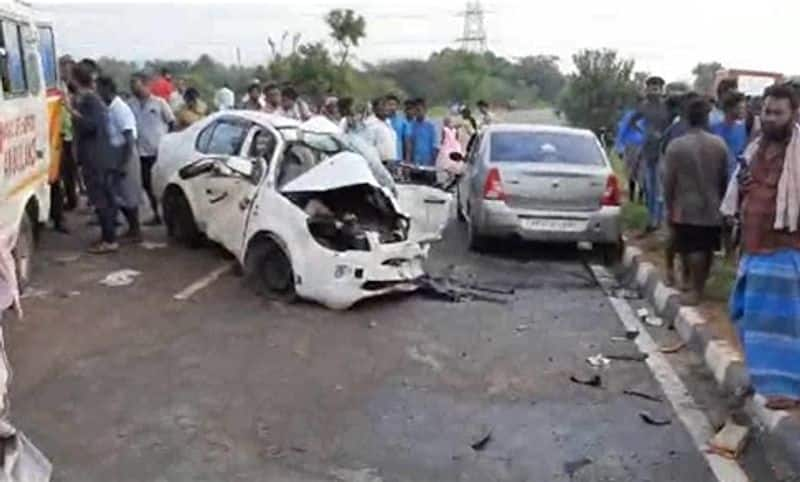
M 706 131 L 711 106 L 702 98 L 686 107 L 689 130 L 672 141 L 664 156 L 664 196 L 673 230 L 673 247 L 689 268 L 686 305 L 703 296 L 714 251 L 720 248 L 719 212 L 728 184 L 728 153 L 719 137 Z

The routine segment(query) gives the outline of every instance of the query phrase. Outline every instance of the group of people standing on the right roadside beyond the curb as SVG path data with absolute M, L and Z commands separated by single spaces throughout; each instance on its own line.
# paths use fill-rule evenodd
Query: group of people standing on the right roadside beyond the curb
M 800 110 L 798 89 L 775 84 L 747 97 L 734 79 L 716 99 L 665 96 L 651 77 L 626 112 L 616 150 L 647 236 L 665 222 L 667 283 L 697 305 L 715 253 L 739 256 L 731 319 L 755 391 L 767 407 L 800 407 Z M 680 257 L 680 282 L 675 259 Z

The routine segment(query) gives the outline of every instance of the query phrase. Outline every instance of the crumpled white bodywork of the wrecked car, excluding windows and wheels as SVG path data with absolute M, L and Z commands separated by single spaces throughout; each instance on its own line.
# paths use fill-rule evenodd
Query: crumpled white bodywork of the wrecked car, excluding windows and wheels
M 231 112 L 226 114 L 231 115 Z M 267 234 L 278 240 L 286 251 L 298 296 L 332 309 L 347 309 L 365 298 L 417 288 L 415 281 L 424 275 L 428 243 L 441 235 L 445 223 L 442 219 L 449 213 L 451 195 L 424 186 L 419 189 L 397 186 L 396 195 L 379 182 L 360 154 L 345 151 L 323 160 L 281 188 L 276 188 L 276 164 L 280 162 L 276 156 L 257 186 L 248 186 L 245 180 L 229 181 L 228 186 L 233 191 L 224 193 L 225 198 L 220 197 L 218 203 L 209 204 L 203 199 L 205 193 L 217 186 L 203 185 L 198 189 L 193 183 L 201 182 L 200 179 L 184 180 L 178 176 L 181 167 L 198 158 L 194 152 L 198 131 L 194 129 L 190 135 L 172 134 L 162 141 L 154 184 L 160 186 L 162 194 L 167 186 L 178 186 L 189 201 L 201 231 L 225 246 L 240 263 L 244 263 L 251 241 L 259 234 Z M 286 142 L 294 139 L 296 136 L 291 131 L 286 132 L 277 150 L 282 152 Z M 289 199 L 297 193 L 330 192 L 357 185 L 380 190 L 391 201 L 395 213 L 410 218 L 407 239 L 381 243 L 377 233 L 368 231 L 368 251 L 329 249 L 310 233 L 309 215 Z M 425 202 L 434 198 L 433 203 Z M 227 213 L 235 213 L 243 206 L 243 200 L 249 203 L 246 214 L 242 215 L 244 218 L 228 216 Z M 218 210 L 228 202 L 230 207 L 224 211 L 226 215 L 221 215 Z M 240 211 L 245 212 L 244 209 Z M 241 227 L 237 229 L 237 226 Z

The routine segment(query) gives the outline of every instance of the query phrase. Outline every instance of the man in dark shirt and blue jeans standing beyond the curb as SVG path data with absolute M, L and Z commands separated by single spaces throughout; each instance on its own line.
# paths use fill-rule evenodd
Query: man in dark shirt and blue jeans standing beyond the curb
M 630 119 L 630 125 L 637 129 L 639 120 L 644 121 L 644 142 L 642 162 L 644 164 L 645 204 L 648 223 L 645 233 L 658 230 L 664 217 L 664 198 L 658 168 L 661 137 L 672 123 L 669 110 L 662 99 L 664 79 L 650 77 L 645 81 L 645 100 Z

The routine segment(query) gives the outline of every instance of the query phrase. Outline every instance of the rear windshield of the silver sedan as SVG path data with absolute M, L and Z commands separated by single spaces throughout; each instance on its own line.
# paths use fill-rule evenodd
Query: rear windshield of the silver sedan
M 535 162 L 600 166 L 603 154 L 589 136 L 560 132 L 495 132 L 492 162 Z

